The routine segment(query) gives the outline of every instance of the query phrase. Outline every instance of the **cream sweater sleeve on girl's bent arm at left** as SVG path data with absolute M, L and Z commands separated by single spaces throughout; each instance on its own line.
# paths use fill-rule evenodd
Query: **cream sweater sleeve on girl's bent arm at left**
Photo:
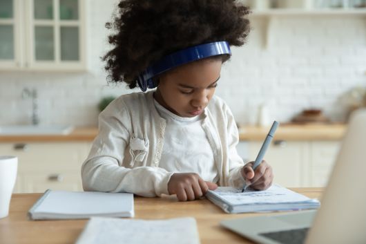
M 168 194 L 172 173 L 159 167 L 123 167 L 131 137 L 131 119 L 123 102 L 113 101 L 99 115 L 99 133 L 81 166 L 85 191 L 131 192 L 140 196 Z

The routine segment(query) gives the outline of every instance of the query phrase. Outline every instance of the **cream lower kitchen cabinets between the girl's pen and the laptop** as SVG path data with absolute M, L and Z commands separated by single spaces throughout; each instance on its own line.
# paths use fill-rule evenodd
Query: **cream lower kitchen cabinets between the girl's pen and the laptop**
M 255 160 L 262 142 L 247 145 L 247 161 Z M 274 182 L 284 187 L 325 187 L 339 149 L 334 140 L 273 140 L 264 159 L 273 167 Z

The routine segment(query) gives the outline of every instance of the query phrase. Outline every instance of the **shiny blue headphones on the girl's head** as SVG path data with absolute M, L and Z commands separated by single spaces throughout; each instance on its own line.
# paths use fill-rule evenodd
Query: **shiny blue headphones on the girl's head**
M 153 77 L 156 75 L 199 59 L 224 54 L 231 55 L 230 46 L 227 41 L 215 41 L 177 51 L 176 53 L 163 57 L 155 64 L 148 66 L 137 77 L 137 84 L 139 84 L 139 88 L 142 91 L 146 91 L 147 88 L 155 88 L 157 84 L 153 82 Z

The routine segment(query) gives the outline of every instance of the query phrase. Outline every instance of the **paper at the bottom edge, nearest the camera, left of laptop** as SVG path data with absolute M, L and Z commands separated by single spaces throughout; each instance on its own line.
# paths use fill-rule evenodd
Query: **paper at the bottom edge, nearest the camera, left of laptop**
M 76 244 L 199 244 L 194 218 L 136 220 L 90 218 Z

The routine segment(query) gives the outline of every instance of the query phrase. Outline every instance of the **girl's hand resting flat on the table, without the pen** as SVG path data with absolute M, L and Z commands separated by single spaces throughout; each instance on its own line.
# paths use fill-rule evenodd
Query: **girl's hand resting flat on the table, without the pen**
M 218 185 L 202 180 L 197 173 L 174 173 L 168 182 L 169 194 L 176 194 L 180 201 L 198 199 L 216 188 Z

